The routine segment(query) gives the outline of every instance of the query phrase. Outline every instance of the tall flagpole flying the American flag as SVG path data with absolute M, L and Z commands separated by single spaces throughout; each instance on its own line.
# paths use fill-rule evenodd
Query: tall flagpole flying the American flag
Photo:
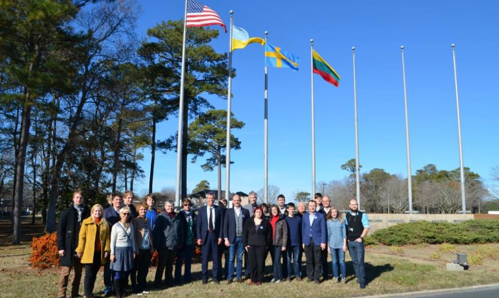
M 182 175 L 182 134 L 184 123 L 185 40 L 187 35 L 187 0 L 184 11 L 184 39 L 182 42 L 182 71 L 180 75 L 179 135 L 177 136 L 177 176 L 175 182 L 175 204 L 180 207 L 180 181 Z

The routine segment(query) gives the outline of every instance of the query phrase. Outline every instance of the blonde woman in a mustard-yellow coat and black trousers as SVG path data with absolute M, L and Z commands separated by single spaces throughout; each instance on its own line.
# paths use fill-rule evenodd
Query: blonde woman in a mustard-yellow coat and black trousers
M 111 226 L 102 216 L 104 208 L 95 204 L 90 217 L 83 220 L 80 229 L 76 255 L 85 265 L 84 291 L 86 297 L 93 297 L 95 278 L 101 265 L 109 263 L 111 252 Z

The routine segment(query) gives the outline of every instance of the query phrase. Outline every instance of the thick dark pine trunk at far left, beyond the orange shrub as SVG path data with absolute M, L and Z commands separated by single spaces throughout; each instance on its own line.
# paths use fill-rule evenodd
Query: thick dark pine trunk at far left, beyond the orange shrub
M 30 65 L 30 71 L 33 68 L 33 63 Z M 26 148 L 28 146 L 29 139 L 29 125 L 30 125 L 30 117 L 31 117 L 31 107 L 32 104 L 29 102 L 29 89 L 26 90 L 24 105 L 23 105 L 23 113 L 21 119 L 21 137 L 19 139 L 19 151 L 17 153 L 17 166 L 16 166 L 16 176 L 17 180 L 15 181 L 15 195 L 14 195 L 14 233 L 12 237 L 13 244 L 21 243 L 21 212 L 22 212 L 22 204 L 23 204 L 23 189 L 24 189 L 24 165 L 26 162 Z

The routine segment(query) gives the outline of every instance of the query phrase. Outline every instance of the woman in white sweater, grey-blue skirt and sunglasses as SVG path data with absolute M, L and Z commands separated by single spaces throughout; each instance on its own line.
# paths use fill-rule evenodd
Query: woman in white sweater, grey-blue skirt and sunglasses
M 116 297 L 123 297 L 123 288 L 128 274 L 133 269 L 133 259 L 137 253 L 133 226 L 129 222 L 131 211 L 128 207 L 119 210 L 120 221 L 111 229 L 111 270 L 114 271 Z

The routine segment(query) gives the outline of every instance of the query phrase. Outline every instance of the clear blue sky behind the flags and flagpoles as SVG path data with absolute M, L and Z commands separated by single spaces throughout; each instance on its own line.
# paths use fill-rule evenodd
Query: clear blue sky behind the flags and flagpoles
M 376 167 L 407 176 L 405 118 L 400 45 L 405 68 L 411 137 L 412 174 L 434 163 L 438 169 L 459 167 L 456 97 L 451 44 L 456 44 L 464 164 L 492 181 L 497 158 L 499 111 L 495 53 L 499 40 L 496 1 L 326 1 L 254 0 L 203 2 L 229 26 L 234 24 L 301 57 L 299 71 L 269 68 L 269 184 L 291 199 L 296 190 L 311 192 L 310 39 L 315 50 L 340 74 L 340 87 L 315 75 L 316 181 L 341 180 L 340 166 L 355 157 L 352 51 L 357 64 L 357 99 L 361 173 Z M 313 5 L 311 4 L 313 3 Z M 183 17 L 184 1 L 139 1 L 137 32 Z M 228 51 L 229 34 L 220 26 L 212 42 Z M 495 36 L 495 37 L 494 37 Z M 233 131 L 241 150 L 231 152 L 230 190 L 249 192 L 263 187 L 263 47 L 236 50 L 232 111 L 246 123 Z M 212 104 L 226 109 L 224 99 Z M 178 119 L 159 124 L 158 139 L 176 134 Z M 150 153 L 141 166 L 149 173 Z M 188 164 L 190 191 L 201 180 L 217 185 L 217 173 Z M 176 153 L 156 155 L 154 191 L 174 187 Z M 222 169 L 225 188 L 225 169 Z M 147 191 L 149 176 L 138 182 Z M 318 190 L 317 190 L 318 191 Z

